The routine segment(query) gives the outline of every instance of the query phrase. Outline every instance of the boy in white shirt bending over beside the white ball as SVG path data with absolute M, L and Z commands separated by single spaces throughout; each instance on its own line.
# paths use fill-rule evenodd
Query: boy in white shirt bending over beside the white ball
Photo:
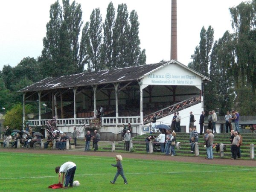
M 64 178 L 65 178 L 65 185 L 64 189 L 68 188 L 68 184 L 70 187 L 73 187 L 73 180 L 76 172 L 76 164 L 68 161 L 64 163 L 60 167 L 55 168 L 55 172 L 58 173 L 58 182 L 63 185 Z M 61 175 L 62 175 L 62 182 L 61 182 Z

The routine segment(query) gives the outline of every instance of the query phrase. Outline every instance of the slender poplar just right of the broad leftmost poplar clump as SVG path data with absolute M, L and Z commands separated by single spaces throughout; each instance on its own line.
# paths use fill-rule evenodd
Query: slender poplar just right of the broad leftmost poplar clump
M 100 66 L 100 49 L 102 44 L 102 16 L 100 14 L 99 8 L 93 9 L 90 15 L 90 27 L 89 27 L 89 39 L 90 44 L 88 44 L 88 71 L 99 71 L 103 67 Z

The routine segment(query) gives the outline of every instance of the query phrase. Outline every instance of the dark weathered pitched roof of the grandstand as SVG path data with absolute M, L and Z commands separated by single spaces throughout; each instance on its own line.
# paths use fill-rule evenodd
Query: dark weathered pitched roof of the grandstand
M 61 89 L 68 87 L 81 87 L 81 86 L 90 86 L 90 85 L 99 85 L 99 84 L 108 84 L 121 81 L 134 81 L 143 78 L 148 73 L 157 70 L 159 67 L 164 67 L 167 64 L 178 64 L 187 70 L 192 71 L 189 67 L 172 60 L 164 61 L 156 64 L 146 64 L 136 67 L 126 67 L 113 70 L 102 70 L 98 72 L 85 72 L 69 76 L 61 77 L 49 77 L 38 81 L 30 86 L 27 86 L 19 92 L 27 91 L 38 91 L 38 90 L 52 90 L 52 89 Z M 200 73 L 192 71 L 202 78 L 207 78 Z M 208 78 L 207 78 L 208 79 Z M 209 79 L 208 79 L 209 80 Z

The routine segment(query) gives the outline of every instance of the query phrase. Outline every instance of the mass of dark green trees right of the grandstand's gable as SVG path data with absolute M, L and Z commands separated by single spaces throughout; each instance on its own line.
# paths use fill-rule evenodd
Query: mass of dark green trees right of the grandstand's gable
M 215 109 L 224 115 L 236 109 L 242 115 L 253 115 L 256 114 L 256 0 L 230 8 L 230 14 L 235 32 L 225 32 L 208 49 L 212 41 L 207 39 L 213 37 L 213 29 L 209 27 L 206 32 L 203 28 L 189 67 L 205 76 L 209 69 L 211 81 L 204 89 L 207 111 Z M 209 68 L 207 61 L 210 61 Z

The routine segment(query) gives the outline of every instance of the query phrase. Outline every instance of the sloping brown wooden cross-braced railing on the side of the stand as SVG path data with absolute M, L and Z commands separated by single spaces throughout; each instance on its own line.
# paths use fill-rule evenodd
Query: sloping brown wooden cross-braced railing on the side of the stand
M 186 99 L 184 101 L 181 101 L 179 103 L 175 103 L 174 105 L 171 105 L 167 108 L 163 108 L 159 111 L 155 111 L 154 113 L 156 114 L 157 119 L 160 119 L 165 116 L 172 115 L 173 113 L 175 113 L 177 111 L 181 111 L 183 109 L 189 108 L 198 103 L 201 103 L 201 95 L 197 95 L 197 96 L 191 97 L 189 99 Z M 146 116 L 143 116 L 143 124 L 144 125 L 148 124 L 149 122 L 152 121 L 154 113 L 150 113 Z

